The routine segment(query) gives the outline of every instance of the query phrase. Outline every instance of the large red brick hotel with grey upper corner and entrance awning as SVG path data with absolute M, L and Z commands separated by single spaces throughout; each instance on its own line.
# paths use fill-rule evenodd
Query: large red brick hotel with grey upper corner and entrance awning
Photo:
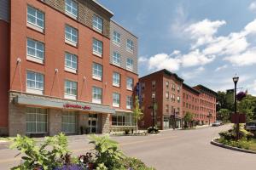
M 137 37 L 94 0 L 0 2 L 0 134 L 133 127 Z

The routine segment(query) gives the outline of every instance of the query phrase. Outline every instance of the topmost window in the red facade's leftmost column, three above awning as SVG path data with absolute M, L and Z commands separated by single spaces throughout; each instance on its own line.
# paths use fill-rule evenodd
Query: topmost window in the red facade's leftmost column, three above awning
M 44 13 L 39 11 L 36 8 L 32 8 L 31 6 L 27 6 L 27 23 L 32 26 L 37 26 L 35 29 L 38 31 L 44 31 Z

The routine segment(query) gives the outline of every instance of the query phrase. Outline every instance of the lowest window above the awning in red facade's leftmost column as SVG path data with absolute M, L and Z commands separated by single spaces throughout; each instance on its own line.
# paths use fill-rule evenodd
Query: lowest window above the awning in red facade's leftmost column
M 44 75 L 38 72 L 26 71 L 26 92 L 44 94 Z

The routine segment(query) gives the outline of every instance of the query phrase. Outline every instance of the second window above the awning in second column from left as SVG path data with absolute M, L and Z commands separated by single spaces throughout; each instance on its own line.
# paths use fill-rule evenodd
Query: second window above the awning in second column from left
M 76 73 L 77 70 L 78 70 L 77 55 L 65 53 L 65 71 Z

